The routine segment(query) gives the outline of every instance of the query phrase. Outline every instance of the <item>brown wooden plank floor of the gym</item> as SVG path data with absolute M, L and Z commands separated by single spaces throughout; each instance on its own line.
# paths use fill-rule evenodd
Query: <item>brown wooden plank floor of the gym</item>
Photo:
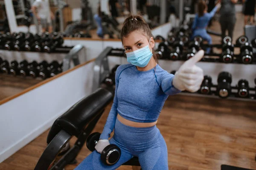
M 238 16 L 234 39 L 242 34 Z M 213 30 L 218 31 L 215 23 Z M 213 28 L 213 27 L 212 27 Z M 219 43 L 216 37 L 213 43 Z M 111 104 L 94 131 L 102 132 Z M 167 147 L 170 170 L 221 170 L 221 164 L 256 170 L 256 102 L 175 95 L 169 96 L 157 127 Z M 0 164 L 0 170 L 33 170 L 47 146 L 49 130 Z M 75 141 L 72 139 L 71 143 Z M 90 154 L 83 147 L 78 164 Z M 68 165 L 65 170 L 73 170 Z M 131 170 L 121 166 L 118 170 Z

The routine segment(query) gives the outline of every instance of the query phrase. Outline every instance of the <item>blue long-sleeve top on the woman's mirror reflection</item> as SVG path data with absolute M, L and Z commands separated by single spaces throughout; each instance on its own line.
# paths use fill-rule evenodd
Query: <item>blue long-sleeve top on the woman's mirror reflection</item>
M 210 19 L 216 13 L 217 9 L 218 7 L 215 6 L 215 8 L 213 8 L 211 12 L 205 13 L 204 16 L 201 16 L 201 17 L 198 17 L 198 14 L 195 14 L 195 19 L 192 24 L 192 30 L 206 28 L 208 26 Z

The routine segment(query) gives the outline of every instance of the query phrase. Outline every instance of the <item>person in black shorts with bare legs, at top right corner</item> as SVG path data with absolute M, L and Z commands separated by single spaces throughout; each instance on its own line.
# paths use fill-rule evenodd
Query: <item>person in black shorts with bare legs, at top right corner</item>
M 255 4 L 256 0 L 243 0 L 244 3 L 244 26 L 247 25 L 248 17 L 250 17 L 250 23 L 253 24 L 254 22 L 254 15 L 255 15 Z

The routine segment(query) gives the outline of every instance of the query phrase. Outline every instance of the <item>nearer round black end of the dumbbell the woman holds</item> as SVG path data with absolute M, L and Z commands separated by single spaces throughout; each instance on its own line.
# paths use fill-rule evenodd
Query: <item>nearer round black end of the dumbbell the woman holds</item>
M 121 156 L 121 150 L 115 144 L 110 144 L 102 150 L 101 153 L 101 160 L 106 165 L 113 165 L 115 164 Z

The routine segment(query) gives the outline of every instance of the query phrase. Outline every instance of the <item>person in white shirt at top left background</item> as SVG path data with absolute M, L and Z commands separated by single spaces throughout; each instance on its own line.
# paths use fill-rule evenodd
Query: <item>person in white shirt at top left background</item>
M 54 14 L 50 9 L 49 0 L 35 0 L 32 4 L 31 10 L 37 18 L 38 23 L 41 23 L 42 32 L 45 32 L 48 28 L 48 32 L 51 33 Z

